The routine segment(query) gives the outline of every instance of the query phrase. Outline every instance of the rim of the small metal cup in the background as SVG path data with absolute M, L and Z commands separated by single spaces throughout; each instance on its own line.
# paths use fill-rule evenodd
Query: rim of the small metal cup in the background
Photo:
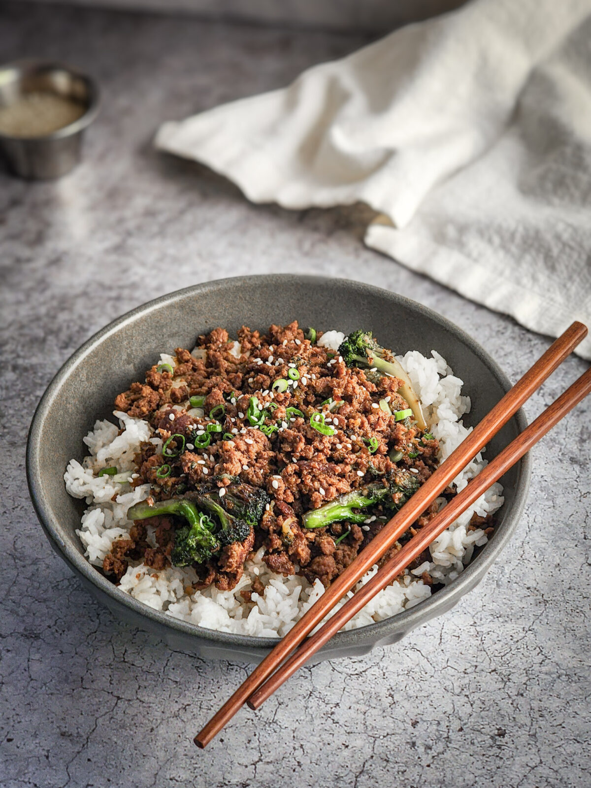
M 66 71 L 71 76 L 76 76 L 84 82 L 88 93 L 87 106 L 84 113 L 82 113 L 80 117 L 77 117 L 75 121 L 72 121 L 72 123 L 61 126 L 61 128 L 56 128 L 54 132 L 50 132 L 49 134 L 42 134 L 36 137 L 17 137 L 12 134 L 0 132 L 0 140 L 21 143 L 42 143 L 51 139 L 64 139 L 65 137 L 71 137 L 78 132 L 84 131 L 84 128 L 87 128 L 87 126 L 95 120 L 95 117 L 99 113 L 101 93 L 96 80 L 88 74 L 62 61 L 44 60 L 43 58 L 19 58 L 0 65 L 0 75 L 2 75 L 3 72 L 6 72 L 6 74 L 12 73 L 13 81 L 19 81 L 27 72 L 35 73 L 54 70 Z

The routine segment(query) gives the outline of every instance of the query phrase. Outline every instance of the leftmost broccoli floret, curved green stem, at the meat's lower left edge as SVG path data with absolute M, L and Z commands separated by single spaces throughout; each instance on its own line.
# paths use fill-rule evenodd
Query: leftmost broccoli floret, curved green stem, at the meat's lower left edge
M 143 520 L 155 515 L 178 515 L 188 522 L 187 526 L 177 528 L 174 534 L 174 547 L 170 555 L 173 566 L 188 567 L 191 563 L 205 563 L 219 550 L 220 540 L 212 533 L 214 523 L 198 511 L 191 501 L 175 498 L 160 500 L 153 506 L 142 501 L 128 510 L 131 520 Z

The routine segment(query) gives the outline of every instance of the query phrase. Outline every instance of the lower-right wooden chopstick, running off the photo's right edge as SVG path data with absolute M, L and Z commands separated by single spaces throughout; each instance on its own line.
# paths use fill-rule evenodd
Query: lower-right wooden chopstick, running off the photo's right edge
M 404 547 L 393 556 L 366 585 L 363 585 L 355 596 L 348 600 L 342 608 L 322 626 L 318 632 L 308 637 L 300 645 L 299 649 L 289 657 L 273 673 L 262 686 L 247 700 L 251 708 L 258 708 L 268 697 L 270 697 L 278 687 L 293 675 L 299 667 L 310 659 L 327 641 L 338 632 L 355 613 L 370 601 L 375 595 L 391 583 L 399 574 L 425 550 L 433 539 L 439 536 L 448 526 L 466 511 L 470 504 L 474 504 L 485 490 L 489 489 L 495 481 L 507 473 L 507 470 L 515 465 L 530 451 L 533 444 L 536 444 L 561 418 L 567 415 L 575 405 L 591 392 L 591 367 L 578 378 L 577 381 L 567 388 L 567 391 L 559 396 L 556 402 L 546 408 L 537 419 L 526 427 L 523 432 L 512 440 L 500 454 L 492 459 L 489 465 L 485 466 L 481 473 L 473 478 L 468 485 L 459 492 L 450 503 L 439 512 L 427 525 L 412 537 Z

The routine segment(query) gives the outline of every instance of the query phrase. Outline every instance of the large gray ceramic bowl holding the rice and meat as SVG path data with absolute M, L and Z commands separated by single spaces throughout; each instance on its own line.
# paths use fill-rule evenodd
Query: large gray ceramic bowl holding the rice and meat
M 138 307 L 92 336 L 61 367 L 35 412 L 27 452 L 31 497 L 51 546 L 91 594 L 114 615 L 157 634 L 172 648 L 204 657 L 258 661 L 277 641 L 215 632 L 172 619 L 102 577 L 84 559 L 76 537 L 84 502 L 65 492 L 65 466 L 72 457 L 82 459 L 82 437 L 95 419 L 110 416 L 114 396 L 142 378 L 161 351 L 191 348 L 197 334 L 217 325 L 232 332 L 243 324 L 266 329 L 273 322 L 294 319 L 324 330 L 373 329 L 386 347 L 396 351 L 415 349 L 429 355 L 437 349 L 465 381 L 472 398 L 467 421 L 473 425 L 510 387 L 489 355 L 448 320 L 395 293 L 340 279 L 270 275 L 197 284 Z M 494 456 L 525 426 L 519 411 L 492 441 L 487 456 Z M 318 659 L 362 655 L 376 645 L 394 643 L 452 608 L 481 581 L 507 544 L 526 504 L 529 478 L 526 455 L 502 479 L 505 503 L 495 533 L 455 582 L 392 619 L 337 634 Z

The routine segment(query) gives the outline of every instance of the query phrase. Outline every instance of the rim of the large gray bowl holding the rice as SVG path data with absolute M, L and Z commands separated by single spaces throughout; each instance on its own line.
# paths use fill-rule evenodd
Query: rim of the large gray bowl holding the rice
M 43 490 L 43 481 L 42 475 L 40 473 L 41 469 L 39 466 L 38 447 L 40 433 L 42 433 L 43 430 L 43 424 L 47 418 L 51 404 L 54 402 L 56 396 L 58 396 L 61 384 L 67 377 L 69 377 L 70 374 L 72 374 L 72 371 L 76 369 L 76 366 L 86 359 L 87 355 L 90 355 L 91 352 L 94 351 L 94 349 L 106 339 L 106 337 L 113 335 L 113 333 L 117 333 L 119 329 L 125 325 L 128 325 L 129 323 L 134 322 L 134 320 L 139 316 L 149 315 L 151 312 L 160 309 L 160 307 L 180 301 L 187 296 L 204 296 L 210 294 L 211 292 L 226 288 L 229 284 L 251 284 L 253 282 L 260 282 L 263 280 L 269 282 L 269 284 L 278 285 L 287 283 L 311 284 L 313 282 L 315 286 L 327 287 L 335 282 L 338 282 L 345 287 L 354 288 L 357 292 L 361 290 L 368 296 L 379 296 L 380 298 L 391 299 L 392 302 L 402 304 L 403 306 L 418 312 L 418 314 L 424 315 L 426 318 L 438 323 L 442 329 L 452 333 L 456 339 L 465 344 L 472 352 L 474 352 L 475 355 L 478 356 L 481 362 L 500 382 L 500 385 L 502 385 L 505 391 L 511 388 L 511 382 L 500 369 L 500 366 L 496 364 L 496 362 L 484 350 L 484 348 L 481 347 L 480 344 L 478 344 L 463 329 L 460 329 L 459 326 L 449 321 L 448 318 L 444 318 L 442 315 L 438 314 L 434 310 L 431 310 L 429 307 L 425 307 L 421 303 L 409 299 L 406 296 L 400 296 L 400 294 L 386 290 L 385 288 L 377 288 L 374 285 L 365 284 L 351 279 L 324 276 L 317 277 L 309 274 L 258 274 L 245 277 L 228 277 L 225 279 L 217 279 L 199 284 L 193 284 L 187 288 L 182 288 L 180 290 L 167 293 L 164 296 L 159 296 L 156 299 L 152 299 L 151 301 L 147 301 L 146 303 L 139 305 L 139 307 L 129 310 L 125 314 L 122 314 L 119 318 L 115 318 L 102 329 L 99 329 L 99 331 L 86 340 L 84 344 L 80 346 L 80 348 L 74 351 L 72 355 L 69 356 L 69 359 L 66 359 L 66 361 L 62 364 L 58 372 L 50 381 L 50 384 L 47 386 L 46 391 L 43 393 L 43 396 L 41 397 L 41 400 L 35 409 L 35 414 L 33 415 L 28 433 L 26 454 L 28 489 L 33 507 L 35 508 L 35 513 L 39 518 L 39 522 L 43 526 L 46 536 L 49 538 L 54 549 L 58 552 L 58 555 L 65 560 L 65 563 L 69 565 L 74 574 L 81 575 L 82 578 L 86 579 L 87 582 L 90 582 L 91 585 L 95 585 L 99 590 L 106 593 L 106 595 L 110 597 L 111 600 L 113 600 L 113 603 L 123 604 L 125 607 L 131 608 L 133 612 L 150 619 L 151 623 L 157 626 L 165 626 L 167 629 L 170 628 L 171 630 L 176 630 L 178 633 L 184 635 L 190 635 L 204 641 L 210 641 L 216 645 L 226 645 L 247 650 L 271 649 L 274 645 L 277 645 L 279 638 L 221 632 L 219 630 L 207 629 L 206 627 L 198 626 L 182 619 L 173 618 L 173 616 L 167 615 L 165 611 L 154 610 L 147 604 L 134 599 L 134 597 L 131 597 L 129 594 L 121 591 L 121 589 L 119 589 L 116 585 L 113 585 L 112 582 L 100 574 L 100 572 L 97 571 L 97 569 L 91 563 L 89 563 L 89 561 L 84 558 L 84 556 L 78 552 L 76 548 L 74 548 L 73 543 L 71 544 L 69 539 L 65 539 L 62 536 L 59 523 L 54 517 L 54 512 L 52 511 Z M 517 421 L 519 432 L 522 432 L 522 430 L 527 426 L 526 416 L 522 409 L 517 411 L 514 418 Z M 82 436 L 80 436 L 80 443 L 81 442 Z M 331 638 L 329 643 L 325 645 L 323 649 L 321 649 L 321 652 L 335 648 L 346 649 L 347 647 L 354 647 L 367 642 L 373 642 L 376 645 L 381 642 L 385 643 L 389 638 L 392 638 L 392 636 L 398 634 L 399 637 L 402 637 L 403 634 L 407 633 L 415 626 L 418 626 L 421 623 L 426 623 L 427 620 L 432 619 L 452 608 L 452 606 L 455 605 L 460 597 L 462 597 L 464 593 L 476 585 L 478 581 L 484 576 L 486 571 L 488 571 L 492 566 L 492 563 L 494 563 L 496 558 L 500 555 L 500 552 L 507 545 L 507 542 L 511 539 L 511 536 L 513 535 L 515 528 L 519 523 L 519 519 L 521 518 L 522 512 L 526 505 L 530 486 L 530 475 L 531 459 L 530 454 L 528 453 L 520 460 L 518 464 L 518 478 L 515 485 L 515 499 L 513 501 L 511 510 L 505 513 L 502 532 L 496 534 L 495 538 L 492 541 L 489 541 L 482 548 L 481 552 L 478 553 L 478 556 L 476 556 L 468 564 L 463 572 L 459 574 L 458 578 L 456 578 L 449 585 L 438 590 L 437 593 L 427 597 L 425 600 L 422 600 L 422 602 L 419 604 L 414 605 L 414 607 L 410 608 L 409 610 L 397 613 L 396 615 L 393 615 L 380 622 L 368 624 L 353 630 L 338 632 Z

